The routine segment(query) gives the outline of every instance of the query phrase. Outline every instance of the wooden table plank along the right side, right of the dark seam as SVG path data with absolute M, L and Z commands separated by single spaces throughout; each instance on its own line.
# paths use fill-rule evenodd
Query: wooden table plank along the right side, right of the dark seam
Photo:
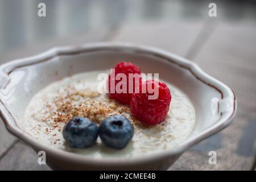
M 218 23 L 216 30 L 193 60 L 236 93 L 237 116 L 218 140 L 190 148 L 170 169 L 249 170 L 256 154 L 256 25 Z M 213 136 L 214 137 L 214 136 Z M 208 142 L 207 142 L 208 141 Z M 216 143 L 220 147 L 216 148 Z M 217 165 L 208 164 L 208 151 L 217 152 Z M 188 165 L 189 164 L 189 165 Z

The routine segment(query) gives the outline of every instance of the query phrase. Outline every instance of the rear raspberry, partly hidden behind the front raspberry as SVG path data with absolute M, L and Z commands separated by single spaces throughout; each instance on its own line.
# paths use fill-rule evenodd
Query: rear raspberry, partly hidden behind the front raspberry
M 113 74 L 117 76 L 118 73 L 124 73 L 126 75 L 126 80 L 115 80 L 115 77 L 113 76 Z M 135 75 L 133 78 L 133 84 L 129 84 L 129 82 L 132 81 L 132 80 L 131 81 L 129 80 L 129 73 L 133 73 L 133 74 L 138 73 L 138 75 Z M 140 74 L 141 74 L 141 69 L 133 63 L 121 62 L 115 65 L 115 71 L 110 73 L 109 79 L 108 79 L 109 97 L 121 102 L 122 104 L 130 104 L 131 94 L 134 93 L 135 86 L 138 84 L 138 83 L 135 84 L 135 82 L 138 82 L 138 79 L 139 79 L 139 82 L 141 82 L 141 77 L 139 77 Z M 139 78 L 137 79 L 136 77 L 139 77 Z M 126 84 L 126 90 L 124 90 L 125 92 L 123 93 L 117 93 L 117 90 L 115 90 L 115 86 L 120 81 Z M 114 82 L 115 84 L 114 85 L 110 84 L 111 82 Z M 133 93 L 129 93 L 129 85 L 133 85 Z M 114 90 L 114 93 L 110 93 L 110 88 Z M 121 89 L 122 89 L 122 86 L 121 86 Z

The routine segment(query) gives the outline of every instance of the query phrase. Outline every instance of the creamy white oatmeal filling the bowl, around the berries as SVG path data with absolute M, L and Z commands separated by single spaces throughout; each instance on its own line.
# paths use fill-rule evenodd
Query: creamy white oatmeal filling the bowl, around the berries
M 106 94 L 97 92 L 99 72 L 87 72 L 54 82 L 41 90 L 28 105 L 20 127 L 40 142 L 61 150 L 102 158 L 104 156 L 135 156 L 174 147 L 188 137 L 195 125 L 195 111 L 188 97 L 168 84 L 172 101 L 164 122 L 148 126 L 130 114 L 127 105 L 121 105 Z M 99 124 L 110 115 L 123 114 L 134 126 L 134 137 L 122 150 L 108 148 L 97 139 L 93 147 L 85 149 L 67 146 L 62 130 L 75 116 L 92 119 Z

